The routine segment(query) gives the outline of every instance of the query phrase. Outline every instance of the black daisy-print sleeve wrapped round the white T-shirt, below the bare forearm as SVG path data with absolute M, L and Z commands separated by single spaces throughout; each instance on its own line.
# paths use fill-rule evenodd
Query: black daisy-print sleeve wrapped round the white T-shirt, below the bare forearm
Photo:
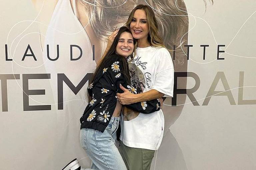
M 137 102 L 130 105 L 125 105 L 127 108 L 138 111 L 140 113 L 149 114 L 160 110 L 159 99 L 150 100 L 146 102 Z

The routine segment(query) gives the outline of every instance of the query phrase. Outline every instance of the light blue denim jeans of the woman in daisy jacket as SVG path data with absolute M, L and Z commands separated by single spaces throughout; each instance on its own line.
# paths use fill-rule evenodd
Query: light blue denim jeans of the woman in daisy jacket
M 91 170 L 127 170 L 115 145 L 119 122 L 120 117 L 112 117 L 103 133 L 89 128 L 81 129 L 80 142 L 92 160 Z

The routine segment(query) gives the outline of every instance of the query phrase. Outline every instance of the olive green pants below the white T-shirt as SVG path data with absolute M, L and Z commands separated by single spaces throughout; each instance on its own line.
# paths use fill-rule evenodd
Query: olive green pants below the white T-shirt
M 120 154 L 127 170 L 150 170 L 154 150 L 128 147 L 120 140 Z

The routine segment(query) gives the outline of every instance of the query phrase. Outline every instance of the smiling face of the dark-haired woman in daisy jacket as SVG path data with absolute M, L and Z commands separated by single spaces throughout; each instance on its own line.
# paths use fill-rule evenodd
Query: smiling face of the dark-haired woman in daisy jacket
M 133 37 L 131 33 L 123 32 L 118 40 L 116 46 L 116 54 L 122 55 L 124 57 L 128 57 L 133 53 L 134 43 Z

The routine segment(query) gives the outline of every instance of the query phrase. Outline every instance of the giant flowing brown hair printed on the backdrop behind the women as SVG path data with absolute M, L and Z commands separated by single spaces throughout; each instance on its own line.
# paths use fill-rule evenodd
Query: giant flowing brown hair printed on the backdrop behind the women
M 85 7 L 90 25 L 95 34 L 102 41 L 127 23 L 131 10 L 138 4 L 148 5 L 154 11 L 155 21 L 158 25 L 158 36 L 154 35 L 152 44 L 175 49 L 174 66 L 183 66 L 186 60 L 186 50 L 181 44 L 187 44 L 188 14 L 183 0 L 79 0 Z M 206 1 L 203 0 L 206 6 Z M 213 0 L 208 0 L 213 3 Z M 154 28 L 152 28 L 154 30 Z M 153 33 L 155 34 L 155 33 Z M 162 38 L 162 41 L 161 41 Z M 151 42 L 151 41 L 150 41 Z M 171 53 L 172 55 L 172 53 Z

